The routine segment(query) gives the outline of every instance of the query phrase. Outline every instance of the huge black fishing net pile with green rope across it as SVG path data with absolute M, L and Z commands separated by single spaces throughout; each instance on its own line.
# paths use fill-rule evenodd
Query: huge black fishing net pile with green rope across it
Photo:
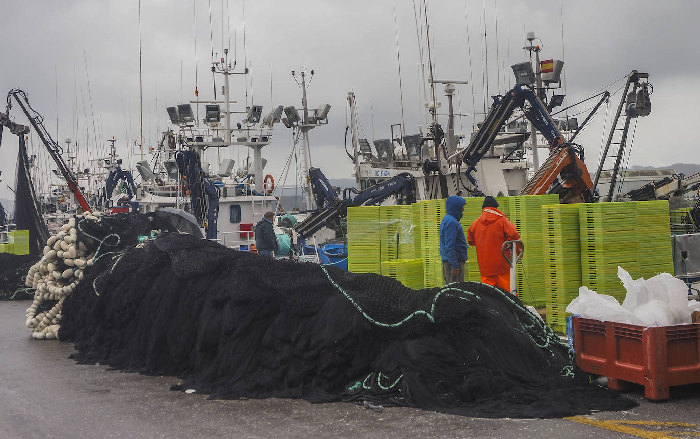
M 141 220 L 125 221 L 132 239 Z M 86 234 L 99 240 L 97 230 Z M 75 344 L 81 363 L 181 377 L 174 389 L 212 398 L 367 401 L 477 417 L 636 404 L 590 384 L 517 299 L 482 284 L 456 288 L 413 291 L 377 274 L 170 233 L 126 252 L 114 246 L 85 270 L 64 302 L 59 338 Z

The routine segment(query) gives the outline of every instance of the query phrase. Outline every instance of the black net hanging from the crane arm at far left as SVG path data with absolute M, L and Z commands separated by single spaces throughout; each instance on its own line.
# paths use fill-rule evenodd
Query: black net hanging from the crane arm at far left
M 15 223 L 17 230 L 29 230 L 29 253 L 38 256 L 43 252 L 49 232 L 43 221 L 41 205 L 36 200 L 34 184 L 31 183 L 25 137 L 18 138 L 20 148 L 15 181 Z

